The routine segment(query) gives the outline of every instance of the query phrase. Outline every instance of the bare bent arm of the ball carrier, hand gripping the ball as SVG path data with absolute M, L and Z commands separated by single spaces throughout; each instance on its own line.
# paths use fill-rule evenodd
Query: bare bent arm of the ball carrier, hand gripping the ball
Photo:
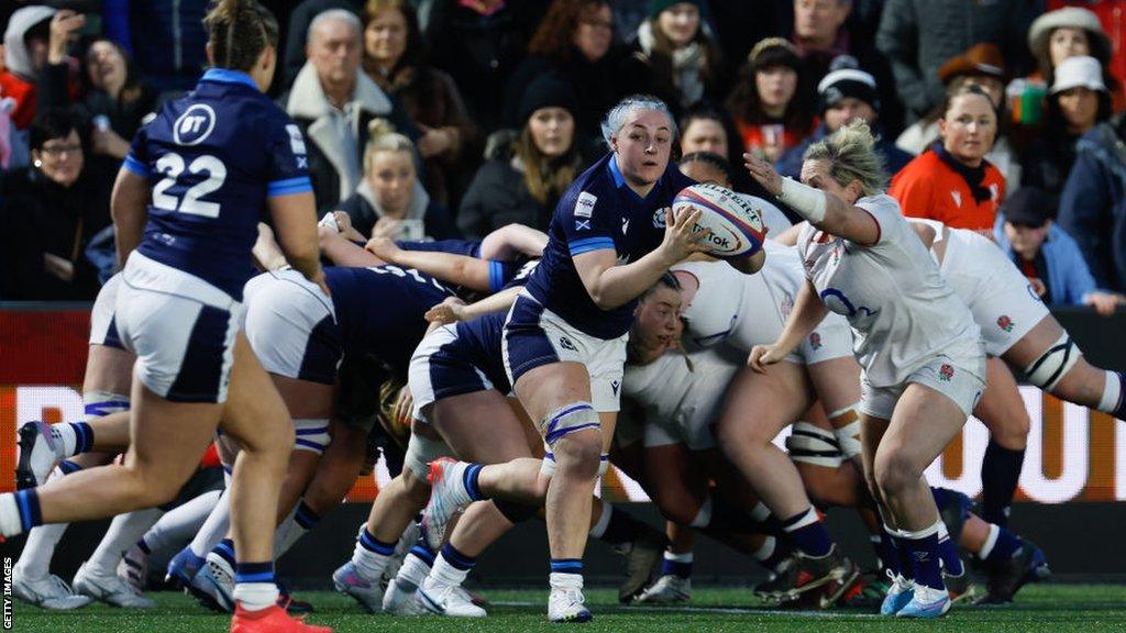
M 655 284 L 669 267 L 694 252 L 704 252 L 707 247 L 701 240 L 708 232 L 692 233 L 692 225 L 699 216 L 700 211 L 694 209 L 674 219 L 670 209 L 665 215 L 664 240 L 661 246 L 637 261 L 623 266 L 617 265 L 617 253 L 610 238 L 571 242 L 571 259 L 595 305 L 601 310 L 625 305 Z M 583 250 L 589 247 L 593 249 Z

